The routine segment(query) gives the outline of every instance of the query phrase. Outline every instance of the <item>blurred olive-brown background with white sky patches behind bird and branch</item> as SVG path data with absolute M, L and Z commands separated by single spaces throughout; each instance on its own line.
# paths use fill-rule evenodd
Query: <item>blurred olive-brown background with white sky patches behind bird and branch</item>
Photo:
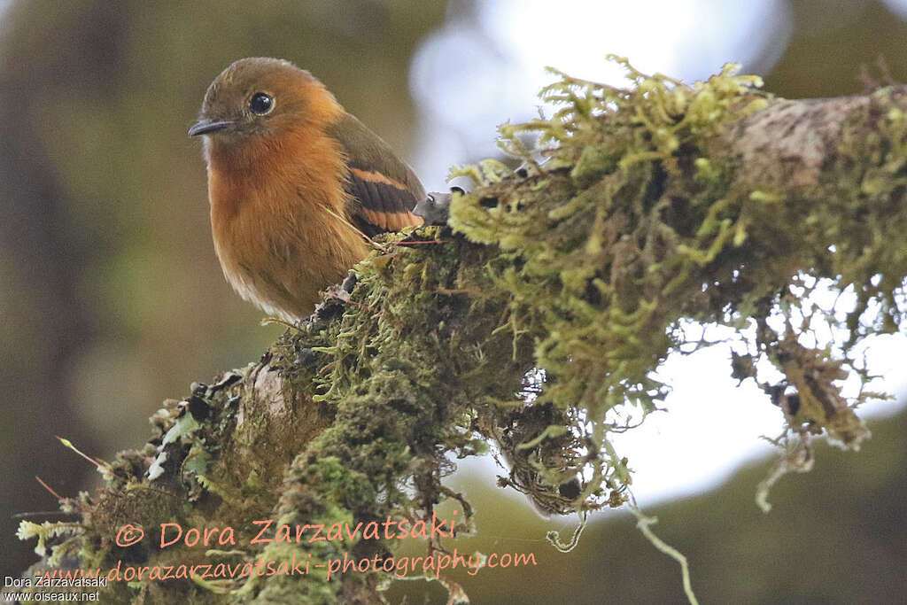
M 732 61 L 772 93 L 835 96 L 862 91 L 865 70 L 907 80 L 905 43 L 907 0 L 0 0 L 0 573 L 34 561 L 12 515 L 55 508 L 35 475 L 64 495 L 96 485 L 54 435 L 101 457 L 140 444 L 164 398 L 254 361 L 280 333 L 220 273 L 186 137 L 233 60 L 309 69 L 444 190 L 449 166 L 496 155 L 497 124 L 537 114 L 545 65 L 619 84 L 605 54 L 687 82 Z M 901 399 L 905 341 L 866 347 Z M 821 448 L 766 516 L 759 435 L 781 415 L 735 387 L 728 359 L 717 346 L 669 360 L 670 413 L 619 443 L 702 602 L 907 602 L 903 407 L 870 406 L 863 452 Z M 742 428 L 709 428 L 728 415 Z M 628 516 L 598 514 L 560 554 L 544 532 L 567 535 L 571 520 L 543 522 L 495 473 L 473 461 L 454 479 L 479 506 L 478 536 L 459 546 L 532 551 L 539 567 L 456 576 L 473 602 L 683 600 L 677 564 Z M 398 582 L 391 597 L 444 602 L 444 590 Z

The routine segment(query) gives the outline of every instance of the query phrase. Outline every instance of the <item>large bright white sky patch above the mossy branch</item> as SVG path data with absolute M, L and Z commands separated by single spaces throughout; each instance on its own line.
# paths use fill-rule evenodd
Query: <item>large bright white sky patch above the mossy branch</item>
M 907 0 L 905 0 L 907 1 Z M 496 154 L 498 124 L 532 117 L 551 65 L 579 77 L 623 83 L 605 61 L 628 56 L 644 72 L 705 79 L 723 63 L 760 73 L 790 34 L 780 0 L 496 0 L 478 20 L 454 20 L 414 55 L 411 89 L 422 114 L 415 167 L 443 190 L 454 162 Z M 637 26 L 634 26 L 637 24 Z

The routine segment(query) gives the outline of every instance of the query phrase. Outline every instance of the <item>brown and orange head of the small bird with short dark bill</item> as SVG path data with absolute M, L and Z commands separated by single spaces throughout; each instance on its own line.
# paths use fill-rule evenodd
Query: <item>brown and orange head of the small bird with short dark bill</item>
M 208 87 L 189 136 L 205 135 L 207 145 L 231 146 L 328 122 L 339 111 L 324 85 L 293 63 L 240 59 Z

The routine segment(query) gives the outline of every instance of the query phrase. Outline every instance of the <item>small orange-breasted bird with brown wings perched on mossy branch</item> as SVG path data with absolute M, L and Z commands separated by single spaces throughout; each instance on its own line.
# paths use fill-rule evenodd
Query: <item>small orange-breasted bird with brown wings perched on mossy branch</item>
M 373 236 L 422 224 L 422 183 L 390 146 L 293 63 L 240 59 L 205 93 L 211 231 L 239 295 L 296 322 L 368 253 Z

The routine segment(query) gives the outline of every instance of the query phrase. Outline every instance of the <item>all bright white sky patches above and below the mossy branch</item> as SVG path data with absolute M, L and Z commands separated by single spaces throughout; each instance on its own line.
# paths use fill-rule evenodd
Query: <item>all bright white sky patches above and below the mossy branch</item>
M 907 12 L 907 0 L 887 0 Z M 766 73 L 783 54 L 790 34 L 782 0 L 496 0 L 480 3 L 478 22 L 451 22 L 424 41 L 412 64 L 411 87 L 421 113 L 417 171 L 430 190 L 444 190 L 449 166 L 496 154 L 498 124 L 532 117 L 551 65 L 591 80 L 621 84 L 606 63 L 609 53 L 629 57 L 643 72 L 686 82 L 707 78 L 723 63 Z M 728 346 L 673 356 L 659 372 L 673 387 L 667 413 L 617 440 L 636 471 L 641 505 L 696 493 L 772 448 L 782 415 L 752 381 L 736 387 Z M 907 337 L 873 338 L 870 367 L 889 376 L 883 387 L 904 395 L 902 360 Z M 898 409 L 892 403 L 863 408 L 863 416 Z M 818 461 L 822 464 L 822 461 Z M 500 472 L 487 458 L 471 472 Z M 754 493 L 756 486 L 753 486 Z

